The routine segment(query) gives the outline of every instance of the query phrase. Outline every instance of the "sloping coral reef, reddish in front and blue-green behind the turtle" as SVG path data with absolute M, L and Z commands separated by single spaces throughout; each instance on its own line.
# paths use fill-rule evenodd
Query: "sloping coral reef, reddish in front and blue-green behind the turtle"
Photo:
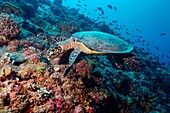
M 48 53 L 53 44 L 77 31 L 115 34 L 104 22 L 62 6 L 61 0 L 0 3 L 0 112 L 169 112 L 170 70 L 139 48 L 132 51 L 135 56 L 118 57 L 124 68 L 116 67 L 113 55 L 81 54 L 62 76 L 71 50 Z

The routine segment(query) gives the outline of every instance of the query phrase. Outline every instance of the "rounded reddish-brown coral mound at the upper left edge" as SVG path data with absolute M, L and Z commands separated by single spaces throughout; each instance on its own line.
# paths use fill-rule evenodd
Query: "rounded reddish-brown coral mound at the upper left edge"
M 0 14 L 0 44 L 6 43 L 20 32 L 17 22 L 8 14 Z

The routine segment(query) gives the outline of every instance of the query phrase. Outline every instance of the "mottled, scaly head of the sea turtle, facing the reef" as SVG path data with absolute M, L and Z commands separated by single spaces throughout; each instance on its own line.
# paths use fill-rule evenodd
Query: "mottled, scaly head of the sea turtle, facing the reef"
M 51 60 L 51 59 L 57 57 L 62 52 L 63 52 L 63 50 L 62 50 L 61 46 L 60 45 L 55 45 L 54 47 L 47 50 L 46 58 L 48 60 Z

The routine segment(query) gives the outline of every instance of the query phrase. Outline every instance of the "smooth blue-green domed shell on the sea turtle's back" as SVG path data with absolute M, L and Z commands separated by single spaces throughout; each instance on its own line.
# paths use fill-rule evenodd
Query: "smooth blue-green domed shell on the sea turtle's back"
M 133 46 L 117 36 L 99 31 L 83 31 L 72 35 L 73 39 L 82 42 L 91 50 L 103 53 L 128 53 Z

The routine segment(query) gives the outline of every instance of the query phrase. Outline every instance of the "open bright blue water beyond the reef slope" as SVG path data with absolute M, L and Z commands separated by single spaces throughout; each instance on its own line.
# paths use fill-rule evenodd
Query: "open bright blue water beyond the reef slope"
M 117 10 L 108 8 L 108 4 L 116 7 Z M 133 35 L 142 36 L 143 38 L 140 40 L 145 42 L 143 44 L 135 42 L 135 44 L 159 56 L 159 59 L 168 66 L 170 66 L 169 4 L 169 0 L 107 0 L 107 2 L 106 0 L 65 0 L 63 2 L 64 6 L 79 8 L 80 13 L 96 21 L 110 23 L 117 20 L 119 26 L 126 25 L 131 35 L 126 34 L 126 29 L 116 30 L 113 26 L 111 28 L 132 41 L 137 39 Z M 100 11 L 95 11 L 97 7 L 102 7 L 103 16 L 106 18 L 97 18 L 98 14 L 101 13 Z M 141 32 L 136 31 L 136 29 Z M 146 46 L 146 42 L 149 42 L 149 46 Z

